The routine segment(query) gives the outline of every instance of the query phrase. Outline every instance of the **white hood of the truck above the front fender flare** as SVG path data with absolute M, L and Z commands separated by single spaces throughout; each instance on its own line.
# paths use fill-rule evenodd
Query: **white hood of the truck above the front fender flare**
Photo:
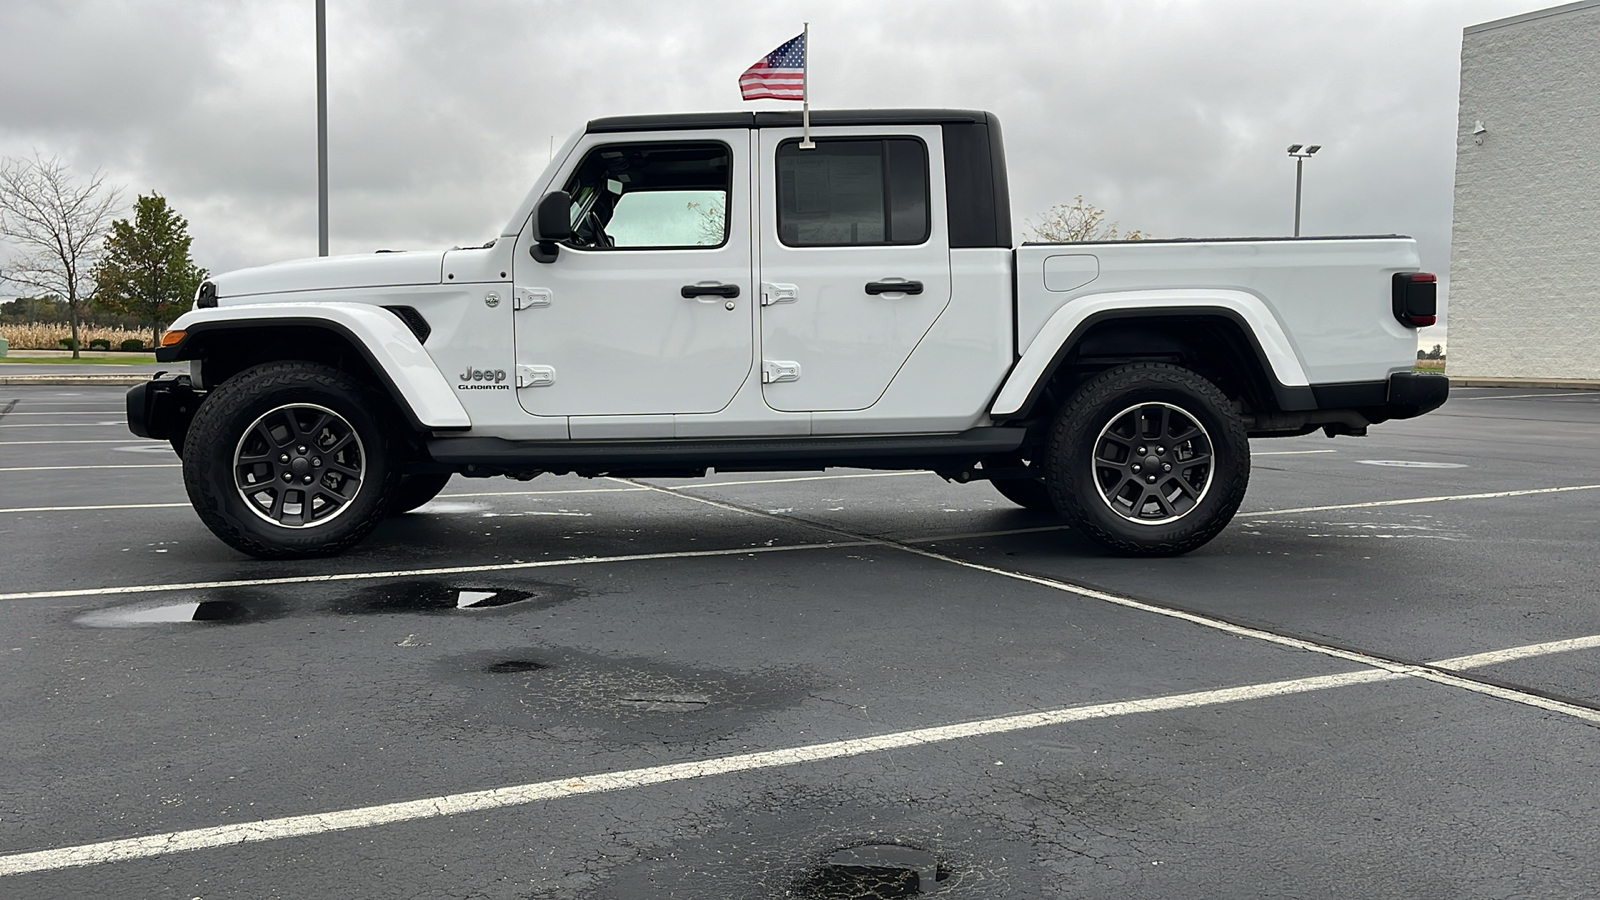
M 219 299 L 312 290 L 437 285 L 443 280 L 443 251 L 365 253 L 290 259 L 237 269 L 210 280 Z

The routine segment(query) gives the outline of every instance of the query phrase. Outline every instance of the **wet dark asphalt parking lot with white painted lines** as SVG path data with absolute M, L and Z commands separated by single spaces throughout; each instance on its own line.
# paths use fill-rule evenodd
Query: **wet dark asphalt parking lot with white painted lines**
M 1600 392 L 1254 444 L 1179 559 L 918 472 L 198 522 L 0 386 L 0 897 L 1592 897 Z

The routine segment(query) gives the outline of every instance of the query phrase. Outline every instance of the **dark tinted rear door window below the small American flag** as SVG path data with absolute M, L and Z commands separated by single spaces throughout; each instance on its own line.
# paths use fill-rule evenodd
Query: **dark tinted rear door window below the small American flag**
M 928 147 L 915 138 L 778 146 L 778 239 L 789 247 L 928 240 Z

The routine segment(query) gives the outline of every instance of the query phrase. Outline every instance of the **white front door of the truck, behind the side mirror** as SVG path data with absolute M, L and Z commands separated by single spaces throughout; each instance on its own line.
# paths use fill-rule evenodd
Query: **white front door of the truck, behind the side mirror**
M 754 364 L 747 130 L 589 135 L 573 239 L 518 239 L 517 397 L 541 416 L 714 413 Z

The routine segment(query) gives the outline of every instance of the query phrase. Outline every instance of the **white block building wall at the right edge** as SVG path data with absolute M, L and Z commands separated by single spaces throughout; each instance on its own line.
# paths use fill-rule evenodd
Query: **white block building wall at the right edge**
M 1600 378 L 1600 0 L 1466 29 L 1454 219 L 1450 375 Z

